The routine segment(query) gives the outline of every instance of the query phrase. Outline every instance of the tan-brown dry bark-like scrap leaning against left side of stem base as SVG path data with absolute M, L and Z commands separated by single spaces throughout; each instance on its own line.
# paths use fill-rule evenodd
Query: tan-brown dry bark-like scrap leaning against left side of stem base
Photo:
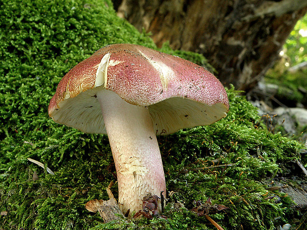
M 113 185 L 113 182 L 109 184 L 106 188 L 109 200 L 90 200 L 85 204 L 85 208 L 90 212 L 99 212 L 104 223 L 108 223 L 113 220 L 118 220 L 124 218 L 123 213 L 118 207 L 117 201 L 115 200 L 110 187 Z

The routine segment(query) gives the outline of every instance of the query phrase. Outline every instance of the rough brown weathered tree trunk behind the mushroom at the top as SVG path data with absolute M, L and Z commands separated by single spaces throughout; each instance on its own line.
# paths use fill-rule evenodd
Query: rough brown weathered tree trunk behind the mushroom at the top
M 249 91 L 278 57 L 307 0 L 123 0 L 118 15 L 157 46 L 200 52 L 226 86 Z

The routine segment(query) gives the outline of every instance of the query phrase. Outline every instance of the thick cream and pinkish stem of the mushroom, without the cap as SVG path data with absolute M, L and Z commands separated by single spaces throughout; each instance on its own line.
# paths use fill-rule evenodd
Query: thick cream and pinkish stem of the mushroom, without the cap
M 165 196 L 165 178 L 153 122 L 147 107 L 132 105 L 115 92 L 97 92 L 118 181 L 123 213 L 142 210 L 148 193 Z M 159 201 L 160 202 L 160 201 Z M 161 211 L 161 204 L 158 204 Z

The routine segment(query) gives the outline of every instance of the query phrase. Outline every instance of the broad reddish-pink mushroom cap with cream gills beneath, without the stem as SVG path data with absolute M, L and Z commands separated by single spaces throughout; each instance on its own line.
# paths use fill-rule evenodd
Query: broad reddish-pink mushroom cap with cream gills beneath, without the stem
M 102 47 L 59 82 L 48 113 L 60 124 L 106 134 L 96 93 L 109 90 L 126 102 L 146 106 L 156 135 L 209 125 L 228 112 L 227 93 L 205 68 L 148 47 Z

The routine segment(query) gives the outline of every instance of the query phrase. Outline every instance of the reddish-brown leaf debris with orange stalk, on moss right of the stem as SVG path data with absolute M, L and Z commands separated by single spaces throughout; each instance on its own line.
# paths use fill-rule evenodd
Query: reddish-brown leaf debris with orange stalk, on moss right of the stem
M 223 230 L 222 227 L 220 227 L 215 221 L 213 221 L 208 214 L 214 214 L 218 211 L 227 209 L 226 206 L 222 204 L 214 204 L 212 205 L 211 199 L 207 199 L 205 204 L 202 204 L 200 201 L 196 201 L 197 207 L 192 208 L 191 211 L 196 213 L 199 217 L 205 216 L 205 218 L 211 222 L 212 225 L 215 226 L 218 230 Z

